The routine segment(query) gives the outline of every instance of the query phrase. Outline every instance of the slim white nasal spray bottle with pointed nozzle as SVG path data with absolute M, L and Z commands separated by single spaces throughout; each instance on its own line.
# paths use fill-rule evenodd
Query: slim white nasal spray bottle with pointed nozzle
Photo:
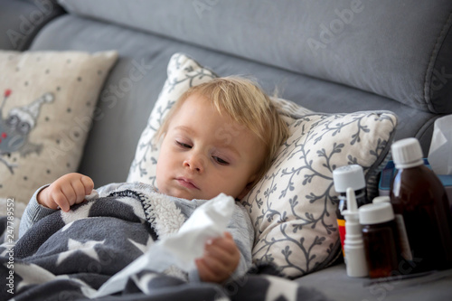
M 347 275 L 349 277 L 367 277 L 369 273 L 364 251 L 363 233 L 353 188 L 348 188 L 346 194 L 348 209 L 343 214 L 346 228 L 344 252 Z

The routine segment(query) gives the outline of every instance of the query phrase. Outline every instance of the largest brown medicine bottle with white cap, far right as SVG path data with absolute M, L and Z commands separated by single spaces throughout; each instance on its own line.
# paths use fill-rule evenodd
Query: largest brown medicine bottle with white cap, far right
M 391 146 L 398 169 L 391 182 L 394 213 L 403 219 L 410 256 L 400 262 L 400 274 L 445 269 L 452 266 L 452 218 L 447 193 L 434 174 L 423 164 L 416 138 L 397 141 Z

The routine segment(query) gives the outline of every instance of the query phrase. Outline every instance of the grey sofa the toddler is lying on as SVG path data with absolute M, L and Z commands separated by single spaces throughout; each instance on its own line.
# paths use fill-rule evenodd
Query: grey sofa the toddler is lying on
M 35 2 L 0 1 L 0 48 L 24 50 L 30 44 L 31 51 L 118 50 L 119 60 L 98 103 L 105 114 L 94 121 L 79 166 L 97 186 L 127 179 L 174 52 L 187 53 L 221 76 L 253 76 L 269 93 L 278 89 L 281 98 L 314 111 L 390 110 L 399 118 L 395 139 L 417 137 L 425 155 L 434 121 L 452 113 L 448 0 L 60 4 L 66 13 L 54 4 L 55 12 L 36 26 L 37 34 L 28 34 L 29 40 L 18 46 L 5 39 L 5 31 L 19 28 L 18 16 L 28 15 Z M 130 89 L 115 89 L 134 62 L 143 67 L 143 77 Z M 451 270 L 379 282 L 347 277 L 344 263 L 336 262 L 294 281 L 334 300 L 452 296 Z

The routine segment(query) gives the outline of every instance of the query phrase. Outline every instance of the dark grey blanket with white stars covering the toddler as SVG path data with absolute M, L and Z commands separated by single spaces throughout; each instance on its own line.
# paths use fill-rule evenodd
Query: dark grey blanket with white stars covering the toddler
M 0 218 L 0 300 L 89 300 L 109 277 L 140 257 L 158 239 L 148 204 L 133 195 L 112 195 L 54 212 L 20 240 Z M 146 218 L 147 217 L 147 218 Z M 16 226 L 16 225 L 15 225 Z M 321 293 L 253 267 L 223 284 L 187 281 L 181 270 L 144 269 L 103 300 L 325 300 Z

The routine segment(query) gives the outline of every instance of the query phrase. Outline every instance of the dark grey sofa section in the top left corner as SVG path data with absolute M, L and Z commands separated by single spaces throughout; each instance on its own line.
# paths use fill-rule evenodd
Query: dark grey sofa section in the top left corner
M 0 0 L 0 49 L 24 51 L 36 33 L 63 12 L 56 0 Z

